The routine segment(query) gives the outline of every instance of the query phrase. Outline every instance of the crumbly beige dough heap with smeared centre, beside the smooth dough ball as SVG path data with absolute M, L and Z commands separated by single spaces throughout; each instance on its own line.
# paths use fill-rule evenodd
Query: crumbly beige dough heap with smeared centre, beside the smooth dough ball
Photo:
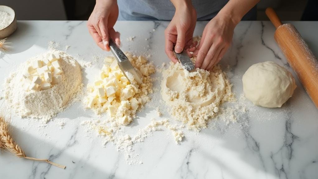
M 161 93 L 176 120 L 200 131 L 219 112 L 220 104 L 234 100 L 231 87 L 219 65 L 211 72 L 202 69 L 188 72 L 180 63 L 170 62 L 163 71 Z

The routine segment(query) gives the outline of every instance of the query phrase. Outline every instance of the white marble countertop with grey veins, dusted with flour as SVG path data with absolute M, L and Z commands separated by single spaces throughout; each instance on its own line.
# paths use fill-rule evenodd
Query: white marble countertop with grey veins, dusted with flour
M 292 23 L 318 56 L 318 22 Z M 121 32 L 124 51 L 150 53 L 150 60 L 161 65 L 169 61 L 163 36 L 167 24 L 118 22 L 115 29 Z M 195 35 L 202 33 L 205 24 L 197 23 Z M 270 22 L 247 21 L 236 27 L 232 46 L 221 63 L 232 67 L 232 90 L 237 98 L 242 94 L 242 75 L 254 63 L 272 60 L 292 71 L 273 33 Z M 136 38 L 128 42 L 126 39 L 131 36 Z M 94 56 L 110 55 L 95 45 L 83 21 L 18 21 L 18 29 L 8 41 L 14 48 L 0 54 L 1 81 L 18 64 L 45 52 L 49 41 L 59 43 L 60 50 L 70 45 L 66 52 L 78 60 L 93 62 L 92 67 L 83 71 L 85 86 L 101 68 L 102 58 L 96 60 Z M 95 134 L 86 136 L 81 121 L 98 116 L 84 111 L 80 102 L 58 114 L 47 127 L 12 114 L 13 137 L 28 156 L 49 158 L 67 168 L 19 159 L 4 152 L 0 153 L 0 178 L 318 178 L 318 110 L 297 78 L 296 81 L 294 96 L 283 107 L 268 109 L 249 104 L 248 112 L 237 123 L 207 128 L 199 134 L 187 132 L 181 145 L 176 145 L 167 131 L 155 132 L 144 143 L 134 146 L 143 164 L 133 166 L 113 145 L 103 148 Z M 129 132 L 133 134 L 147 125 L 154 113 L 150 102 L 130 125 Z M 66 122 L 63 129 L 59 129 L 60 120 Z

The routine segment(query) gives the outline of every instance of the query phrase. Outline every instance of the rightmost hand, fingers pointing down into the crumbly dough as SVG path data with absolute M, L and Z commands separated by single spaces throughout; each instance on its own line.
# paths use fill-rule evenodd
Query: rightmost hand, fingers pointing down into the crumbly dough
M 236 23 L 224 14 L 215 16 L 204 28 L 196 51 L 196 68 L 211 70 L 224 56 L 229 48 Z

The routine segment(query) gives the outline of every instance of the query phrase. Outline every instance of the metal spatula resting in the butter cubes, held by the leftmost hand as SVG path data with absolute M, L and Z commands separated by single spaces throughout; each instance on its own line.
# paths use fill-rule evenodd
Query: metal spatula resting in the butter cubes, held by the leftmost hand
M 118 66 L 121 69 L 122 73 L 126 76 L 131 84 L 133 84 L 133 80 L 135 79 L 137 84 L 142 84 L 142 77 L 140 75 L 139 70 L 135 69 L 133 65 L 131 65 L 130 61 L 121 51 L 121 49 L 116 45 L 113 39 L 109 38 L 109 48 L 113 53 L 115 59 L 117 60 Z M 139 72 L 139 73 L 138 73 Z

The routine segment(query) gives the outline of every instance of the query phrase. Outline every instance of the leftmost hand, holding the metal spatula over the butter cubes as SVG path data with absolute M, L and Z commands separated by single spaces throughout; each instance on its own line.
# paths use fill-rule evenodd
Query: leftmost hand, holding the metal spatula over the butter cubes
M 88 31 L 96 44 L 103 50 L 109 51 L 109 38 L 120 45 L 120 34 L 114 30 L 118 18 L 116 0 L 97 0 L 94 10 L 87 21 Z

